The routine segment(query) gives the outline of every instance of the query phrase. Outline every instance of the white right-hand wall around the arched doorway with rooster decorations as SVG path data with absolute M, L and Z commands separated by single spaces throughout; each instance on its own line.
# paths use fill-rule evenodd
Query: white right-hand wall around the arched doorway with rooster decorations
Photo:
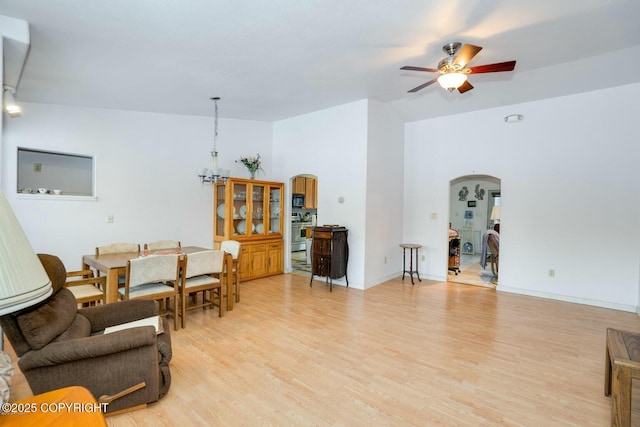
M 495 176 L 498 289 L 634 311 L 639 96 L 635 84 L 407 124 L 404 235 L 428 242 L 421 268 L 446 278 L 449 181 Z M 504 123 L 513 113 L 524 121 Z

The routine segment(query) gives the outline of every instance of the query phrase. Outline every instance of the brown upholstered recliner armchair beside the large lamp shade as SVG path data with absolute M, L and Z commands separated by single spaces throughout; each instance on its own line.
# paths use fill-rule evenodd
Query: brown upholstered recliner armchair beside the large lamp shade
M 77 308 L 63 287 L 66 272 L 58 257 L 38 255 L 53 285 L 42 303 L 0 317 L 0 324 L 20 358 L 18 366 L 34 394 L 73 385 L 96 399 L 117 395 L 140 383 L 145 387 L 119 397 L 108 412 L 146 405 L 164 396 L 171 384 L 171 337 L 152 326 L 103 334 L 106 327 L 158 314 L 155 301 L 131 300 Z

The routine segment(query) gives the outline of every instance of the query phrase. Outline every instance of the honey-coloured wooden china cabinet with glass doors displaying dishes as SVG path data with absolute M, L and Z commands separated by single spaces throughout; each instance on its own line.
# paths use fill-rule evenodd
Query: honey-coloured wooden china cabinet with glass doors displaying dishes
M 241 281 L 284 271 L 283 196 L 281 182 L 229 178 L 214 184 L 215 247 L 223 240 L 242 244 Z

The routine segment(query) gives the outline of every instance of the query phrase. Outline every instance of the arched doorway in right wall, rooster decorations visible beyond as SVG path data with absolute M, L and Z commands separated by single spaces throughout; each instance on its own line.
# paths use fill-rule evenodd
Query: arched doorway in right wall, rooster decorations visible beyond
M 494 287 L 498 283 L 493 274 L 491 251 L 483 237 L 487 230 L 500 222 L 502 202 L 501 180 L 489 175 L 465 175 L 451 180 L 449 198 L 450 223 L 450 282 Z M 456 234 L 458 242 L 455 241 Z M 485 243 L 483 245 L 483 243 Z M 481 265 L 484 260 L 489 261 Z M 456 258 L 457 256 L 457 258 Z M 457 266 L 452 265 L 457 261 Z

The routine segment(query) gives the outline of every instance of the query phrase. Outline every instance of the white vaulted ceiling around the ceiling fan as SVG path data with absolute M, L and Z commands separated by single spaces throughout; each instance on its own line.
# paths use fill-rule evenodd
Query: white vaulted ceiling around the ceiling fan
M 18 101 L 275 121 L 360 99 L 405 121 L 640 81 L 638 0 L 0 0 L 29 22 Z M 448 93 L 449 41 L 517 60 Z M 615 72 L 613 72 L 615 71 Z M 609 75 L 611 74 L 611 75 Z

